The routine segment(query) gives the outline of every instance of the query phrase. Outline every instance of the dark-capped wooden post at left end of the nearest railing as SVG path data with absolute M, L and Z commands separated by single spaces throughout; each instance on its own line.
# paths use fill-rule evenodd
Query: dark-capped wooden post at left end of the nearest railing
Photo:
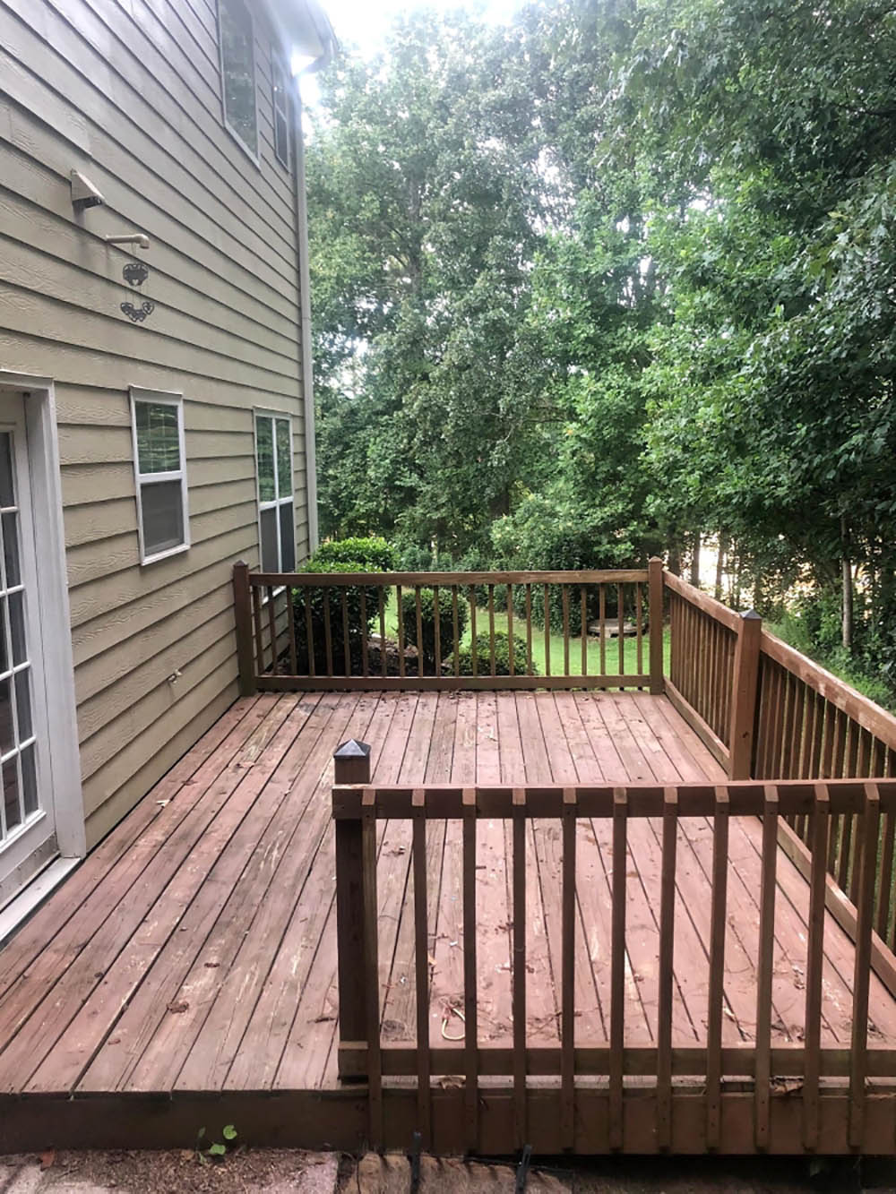
M 333 753 L 335 782 L 369 783 L 370 747 L 355 739 Z M 336 823 L 336 944 L 339 970 L 339 1044 L 367 1044 L 363 832 L 357 820 Z M 372 979 L 376 981 L 376 977 Z M 339 1073 L 343 1076 L 342 1057 Z M 351 1077 L 364 1077 L 351 1067 Z

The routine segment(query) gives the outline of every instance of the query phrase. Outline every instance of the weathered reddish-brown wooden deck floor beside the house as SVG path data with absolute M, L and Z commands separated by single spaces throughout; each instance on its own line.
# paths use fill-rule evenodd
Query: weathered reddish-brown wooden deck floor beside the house
M 372 745 L 374 783 L 722 780 L 663 696 L 642 693 L 314 693 L 238 702 L 0 950 L 0 1151 L 184 1145 L 234 1122 L 250 1144 L 354 1149 L 366 1101 L 337 1073 L 331 756 Z M 528 1036 L 558 1041 L 560 841 L 532 821 Z M 711 825 L 679 830 L 673 1040 L 705 1044 Z M 753 1040 L 761 826 L 731 819 L 725 1044 Z M 434 1044 L 462 1039 L 461 829 L 428 825 Z M 626 1042 L 656 1040 L 659 826 L 632 820 Z M 511 917 L 501 823 L 480 826 L 480 1041 L 509 1035 Z M 576 1041 L 607 1040 L 605 821 L 577 823 Z M 379 855 L 383 1039 L 415 1023 L 410 825 Z M 780 854 L 773 1044 L 802 1039 L 809 888 Z M 851 1039 L 854 950 L 828 916 L 822 1045 Z M 870 1044 L 896 1046 L 872 975 Z M 535 1083 L 536 1084 L 536 1083 Z M 400 1081 L 395 1082 L 400 1094 Z M 450 1082 L 442 1081 L 443 1087 Z M 395 1103 L 407 1143 L 413 1100 Z M 538 1127 L 535 1128 L 538 1133 Z M 497 1137 L 495 1138 L 497 1139 Z M 447 1151 L 450 1132 L 441 1140 Z M 484 1147 L 489 1151 L 487 1133 Z M 492 1141 L 493 1143 L 493 1141 Z M 538 1140 L 534 1140 L 538 1146 Z M 508 1151 L 507 1149 L 504 1151 Z

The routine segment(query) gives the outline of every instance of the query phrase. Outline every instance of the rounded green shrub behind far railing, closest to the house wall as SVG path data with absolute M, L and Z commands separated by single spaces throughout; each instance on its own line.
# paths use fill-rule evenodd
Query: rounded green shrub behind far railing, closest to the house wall
M 352 554 L 354 553 L 354 554 Z M 345 574 L 349 572 L 388 572 L 394 565 L 394 552 L 385 538 L 344 538 L 323 543 L 306 562 L 303 572 L 320 574 Z M 345 621 L 343 622 L 343 593 L 345 595 Z M 363 602 L 362 602 L 363 595 Z M 326 673 L 326 615 L 330 615 L 330 640 L 333 675 L 360 676 L 362 642 L 370 633 L 378 616 L 379 589 L 376 585 L 350 585 L 331 587 L 326 599 L 323 589 L 293 590 L 293 618 L 295 623 L 296 663 L 300 675 L 309 672 L 308 629 L 306 604 L 311 609 L 314 670 Z M 362 617 L 362 604 L 364 616 Z M 346 659 L 348 638 L 348 659 Z

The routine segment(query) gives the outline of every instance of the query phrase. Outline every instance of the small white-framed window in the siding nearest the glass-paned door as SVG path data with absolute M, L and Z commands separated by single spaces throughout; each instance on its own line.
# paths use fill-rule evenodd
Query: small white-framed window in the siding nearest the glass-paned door
M 140 562 L 152 564 L 190 546 L 183 399 L 131 389 L 130 418 Z

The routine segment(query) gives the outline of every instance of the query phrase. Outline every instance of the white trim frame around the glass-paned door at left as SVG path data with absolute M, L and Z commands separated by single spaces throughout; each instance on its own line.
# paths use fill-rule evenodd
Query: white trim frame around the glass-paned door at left
M 87 853 L 81 794 L 81 759 L 68 605 L 66 537 L 62 522 L 62 481 L 56 430 L 56 398 L 50 377 L 0 369 L 0 393 L 24 394 L 27 464 L 31 479 L 31 518 L 39 553 L 38 616 L 47 676 L 47 752 L 56 819 L 56 839 L 65 858 Z

